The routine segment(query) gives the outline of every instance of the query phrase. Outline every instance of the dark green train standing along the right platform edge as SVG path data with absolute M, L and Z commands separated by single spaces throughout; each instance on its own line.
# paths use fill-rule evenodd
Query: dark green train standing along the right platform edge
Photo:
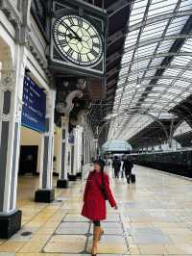
M 135 165 L 148 166 L 178 175 L 192 177 L 192 148 L 130 155 Z

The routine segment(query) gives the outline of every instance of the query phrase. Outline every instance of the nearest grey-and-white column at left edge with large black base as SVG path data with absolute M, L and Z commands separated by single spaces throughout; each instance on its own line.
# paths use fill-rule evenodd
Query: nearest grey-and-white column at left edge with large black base
M 3 54 L 8 54 L 6 48 Z M 19 46 L 14 48 L 14 54 L 16 68 L 12 63 L 2 63 L 0 79 L 0 239 L 10 238 L 21 228 L 22 215 L 16 209 L 16 189 L 26 58 Z

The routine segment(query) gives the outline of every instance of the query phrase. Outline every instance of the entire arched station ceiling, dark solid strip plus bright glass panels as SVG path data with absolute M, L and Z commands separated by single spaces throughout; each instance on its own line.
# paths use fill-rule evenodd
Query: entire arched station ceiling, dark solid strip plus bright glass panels
M 108 13 L 106 97 L 86 116 L 100 145 L 142 143 L 164 120 L 191 126 L 192 0 L 84 1 Z

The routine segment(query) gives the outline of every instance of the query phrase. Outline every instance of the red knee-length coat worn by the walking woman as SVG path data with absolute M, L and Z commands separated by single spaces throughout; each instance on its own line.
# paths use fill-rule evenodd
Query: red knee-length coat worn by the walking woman
M 95 175 L 98 185 L 102 185 L 102 173 L 90 171 L 84 189 L 84 206 L 82 215 L 91 220 L 102 220 L 106 219 L 106 200 L 98 185 L 95 183 L 93 175 Z M 109 204 L 111 207 L 114 207 L 116 202 L 109 188 L 108 174 L 104 174 L 104 179 Z

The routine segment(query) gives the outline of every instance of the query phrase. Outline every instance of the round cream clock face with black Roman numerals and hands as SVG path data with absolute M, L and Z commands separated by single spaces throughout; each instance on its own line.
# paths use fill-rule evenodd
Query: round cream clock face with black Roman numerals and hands
M 73 64 L 95 65 L 103 55 L 103 40 L 84 17 L 60 16 L 54 23 L 53 36 L 60 54 Z

